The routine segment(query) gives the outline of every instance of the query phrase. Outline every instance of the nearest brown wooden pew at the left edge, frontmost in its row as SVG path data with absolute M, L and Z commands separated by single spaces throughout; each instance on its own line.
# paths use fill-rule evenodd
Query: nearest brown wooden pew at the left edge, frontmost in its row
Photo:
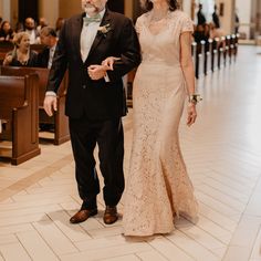
M 12 165 L 19 165 L 40 154 L 38 86 L 36 74 L 0 75 L 0 118 L 6 121 L 6 129 L 0 134 L 0 139 L 12 142 Z

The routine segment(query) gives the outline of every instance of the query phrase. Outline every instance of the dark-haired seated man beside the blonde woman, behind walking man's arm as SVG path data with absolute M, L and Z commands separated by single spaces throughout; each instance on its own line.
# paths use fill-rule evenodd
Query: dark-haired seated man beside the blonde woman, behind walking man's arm
M 51 69 L 53 54 L 58 43 L 56 32 L 53 28 L 44 27 L 40 33 L 41 44 L 45 48 L 38 54 L 38 66 Z

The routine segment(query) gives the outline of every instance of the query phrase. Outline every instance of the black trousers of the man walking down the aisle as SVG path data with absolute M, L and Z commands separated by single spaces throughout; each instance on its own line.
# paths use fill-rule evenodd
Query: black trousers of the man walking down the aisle
M 75 160 L 75 175 L 83 209 L 96 208 L 100 181 L 95 168 L 94 148 L 98 146 L 100 169 L 104 178 L 106 206 L 116 206 L 124 190 L 124 134 L 122 118 L 93 122 L 69 119 Z

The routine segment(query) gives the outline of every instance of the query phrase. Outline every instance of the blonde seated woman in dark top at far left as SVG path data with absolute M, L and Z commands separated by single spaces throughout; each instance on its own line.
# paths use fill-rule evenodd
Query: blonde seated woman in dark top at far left
M 38 65 L 38 53 L 30 50 L 30 35 L 27 32 L 19 32 L 13 36 L 14 48 L 7 53 L 3 65 L 28 66 Z

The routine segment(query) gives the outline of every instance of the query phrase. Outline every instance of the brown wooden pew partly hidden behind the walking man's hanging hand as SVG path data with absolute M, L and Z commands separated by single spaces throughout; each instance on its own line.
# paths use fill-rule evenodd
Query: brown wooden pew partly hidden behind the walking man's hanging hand
M 54 145 L 60 145 L 70 139 L 69 121 L 64 115 L 65 111 L 65 95 L 67 74 L 65 74 L 58 93 L 58 111 L 52 117 L 49 117 L 43 109 L 43 100 L 46 90 L 49 69 L 43 67 L 15 67 L 1 66 L 0 74 L 2 75 L 27 75 L 36 73 L 39 75 L 39 122 L 41 124 L 54 124 Z

